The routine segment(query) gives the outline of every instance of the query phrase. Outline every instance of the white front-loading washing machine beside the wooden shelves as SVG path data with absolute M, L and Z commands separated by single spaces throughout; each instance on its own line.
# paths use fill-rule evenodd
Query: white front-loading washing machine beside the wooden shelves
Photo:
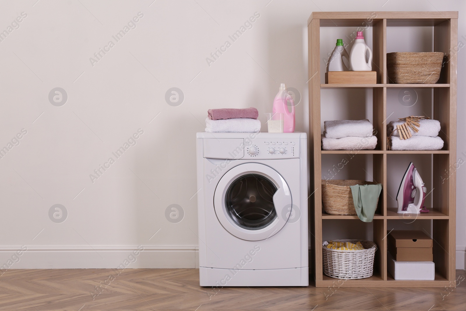
M 308 286 L 305 133 L 197 133 L 201 286 Z

